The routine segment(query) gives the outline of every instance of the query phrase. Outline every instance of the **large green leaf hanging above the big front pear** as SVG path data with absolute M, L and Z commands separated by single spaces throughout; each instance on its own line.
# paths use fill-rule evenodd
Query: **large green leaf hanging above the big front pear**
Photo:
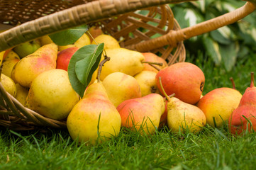
M 69 61 L 67 68 L 69 81 L 74 91 L 81 97 L 84 96 L 84 91 L 91 81 L 91 76 L 99 65 L 103 48 L 103 43 L 86 45 L 79 48 Z

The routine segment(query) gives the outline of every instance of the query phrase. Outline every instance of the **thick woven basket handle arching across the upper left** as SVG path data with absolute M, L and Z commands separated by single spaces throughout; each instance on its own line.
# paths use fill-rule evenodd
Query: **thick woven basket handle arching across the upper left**
M 56 33 L 118 14 L 163 4 L 197 0 L 95 0 L 28 21 L 0 33 L 0 52 L 43 35 Z

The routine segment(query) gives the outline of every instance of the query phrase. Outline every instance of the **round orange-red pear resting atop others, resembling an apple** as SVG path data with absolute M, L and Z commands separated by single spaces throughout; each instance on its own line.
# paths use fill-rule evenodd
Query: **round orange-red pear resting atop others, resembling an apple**
M 204 89 L 204 72 L 195 64 L 189 62 L 177 62 L 161 69 L 155 79 L 160 89 L 159 77 L 162 78 L 162 86 L 167 95 L 175 94 L 176 98 L 189 104 L 196 104 L 201 98 Z

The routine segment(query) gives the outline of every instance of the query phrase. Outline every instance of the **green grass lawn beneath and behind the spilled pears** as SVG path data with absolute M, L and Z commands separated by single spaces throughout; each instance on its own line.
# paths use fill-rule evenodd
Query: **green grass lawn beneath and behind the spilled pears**
M 254 55 L 240 59 L 231 72 L 215 67 L 206 56 L 188 57 L 206 76 L 204 94 L 228 86 L 233 77 L 243 94 L 255 71 Z M 206 125 L 197 135 L 173 134 L 167 128 L 155 135 L 121 130 L 101 145 L 77 145 L 67 130 L 0 131 L 0 169 L 255 169 L 256 133 L 230 135 L 224 125 Z

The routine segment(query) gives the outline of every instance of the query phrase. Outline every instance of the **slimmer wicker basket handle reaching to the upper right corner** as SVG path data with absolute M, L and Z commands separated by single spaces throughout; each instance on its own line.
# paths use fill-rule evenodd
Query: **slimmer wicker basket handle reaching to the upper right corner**
M 255 8 L 255 4 L 247 1 L 244 6 L 237 8 L 235 11 L 223 14 L 222 16 L 218 16 L 202 23 L 198 23 L 195 26 L 183 28 L 181 30 L 170 30 L 166 35 L 139 42 L 138 44 L 130 45 L 127 48 L 131 50 L 137 50 L 139 52 L 146 52 L 149 50 L 157 49 L 159 47 L 164 47 L 165 45 L 177 47 L 178 42 L 187 40 L 196 35 L 208 33 L 212 30 L 227 26 L 231 23 L 235 23 L 236 21 L 239 21 L 240 19 L 255 11 Z

